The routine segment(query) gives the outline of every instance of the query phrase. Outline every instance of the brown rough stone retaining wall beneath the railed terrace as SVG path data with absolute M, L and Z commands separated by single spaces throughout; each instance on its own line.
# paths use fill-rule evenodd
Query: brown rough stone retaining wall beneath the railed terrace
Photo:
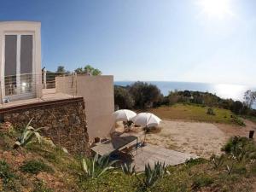
M 90 155 L 89 137 L 83 98 L 42 102 L 15 108 L 3 113 L 3 120 L 23 127 L 32 119 L 32 127 L 45 127 L 41 133 L 55 145 L 67 148 L 71 154 Z

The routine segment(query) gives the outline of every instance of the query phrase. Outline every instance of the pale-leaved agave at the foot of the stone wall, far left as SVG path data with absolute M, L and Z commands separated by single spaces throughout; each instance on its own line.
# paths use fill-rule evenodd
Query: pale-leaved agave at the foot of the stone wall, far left
M 25 147 L 28 143 L 32 142 L 33 137 L 37 137 L 38 143 L 41 143 L 42 138 L 38 131 L 44 127 L 34 129 L 32 126 L 30 126 L 31 122 L 32 119 L 28 122 L 20 137 L 17 138 L 14 148 Z

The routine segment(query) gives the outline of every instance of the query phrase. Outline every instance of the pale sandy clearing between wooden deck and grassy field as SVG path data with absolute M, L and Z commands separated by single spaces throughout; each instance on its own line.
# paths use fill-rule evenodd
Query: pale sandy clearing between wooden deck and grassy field
M 249 130 L 256 130 L 253 122 L 245 120 L 245 123 L 246 127 L 240 127 L 186 120 L 163 120 L 160 123 L 160 131 L 148 133 L 146 142 L 209 158 L 212 154 L 221 154 L 221 148 L 230 137 L 247 137 Z M 119 131 L 120 129 L 121 126 Z M 132 131 L 141 132 L 142 130 L 135 127 Z

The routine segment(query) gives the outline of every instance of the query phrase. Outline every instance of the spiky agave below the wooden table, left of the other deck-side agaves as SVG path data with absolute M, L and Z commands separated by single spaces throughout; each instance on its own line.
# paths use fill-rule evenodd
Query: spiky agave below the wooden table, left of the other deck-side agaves
M 108 172 L 113 169 L 113 164 L 118 160 L 109 160 L 109 155 L 102 155 L 99 157 L 98 154 L 94 158 L 86 158 L 82 160 L 82 168 L 87 177 L 100 177 L 104 172 Z

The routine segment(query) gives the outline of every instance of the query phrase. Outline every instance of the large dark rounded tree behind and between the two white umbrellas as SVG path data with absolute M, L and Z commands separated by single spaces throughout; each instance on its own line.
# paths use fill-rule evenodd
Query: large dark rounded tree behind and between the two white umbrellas
M 163 96 L 154 84 L 136 82 L 131 84 L 130 93 L 137 108 L 151 108 L 160 104 Z

